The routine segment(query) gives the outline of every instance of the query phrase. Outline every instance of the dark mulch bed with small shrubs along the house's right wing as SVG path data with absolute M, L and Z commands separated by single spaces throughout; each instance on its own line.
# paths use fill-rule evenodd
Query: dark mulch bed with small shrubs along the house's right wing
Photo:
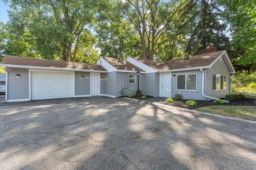
M 173 101 L 173 103 L 167 103 L 165 101 L 160 101 L 159 103 L 164 105 L 170 105 L 174 107 L 181 107 L 181 108 L 187 108 L 187 109 L 195 109 L 200 107 L 206 107 L 206 106 L 220 106 L 221 104 L 213 103 L 213 100 L 195 100 L 197 105 L 196 106 L 189 106 L 186 104 L 186 101 L 188 100 L 181 100 L 181 101 Z M 256 106 L 256 102 L 254 102 L 254 99 L 251 98 L 244 98 L 242 100 L 236 100 L 236 101 L 229 101 L 229 103 L 225 103 L 222 106 L 229 105 L 229 106 Z

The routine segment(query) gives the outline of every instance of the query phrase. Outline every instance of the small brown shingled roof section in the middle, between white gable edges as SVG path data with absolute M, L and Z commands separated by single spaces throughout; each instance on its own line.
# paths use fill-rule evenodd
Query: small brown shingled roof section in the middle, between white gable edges
M 120 60 L 120 59 L 111 58 L 111 57 L 101 57 L 101 58 L 103 58 L 109 64 L 113 65 L 117 70 L 143 71 L 139 67 L 125 60 Z

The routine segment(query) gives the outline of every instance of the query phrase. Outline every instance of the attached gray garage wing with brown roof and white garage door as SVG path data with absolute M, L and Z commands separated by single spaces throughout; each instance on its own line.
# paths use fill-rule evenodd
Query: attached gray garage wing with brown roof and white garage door
M 6 56 L 1 65 L 6 70 L 4 102 L 104 95 L 100 73 L 108 71 L 98 64 Z

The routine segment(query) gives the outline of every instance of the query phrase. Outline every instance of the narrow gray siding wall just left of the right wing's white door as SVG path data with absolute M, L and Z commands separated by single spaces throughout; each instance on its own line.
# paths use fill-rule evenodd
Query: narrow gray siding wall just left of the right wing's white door
M 159 96 L 159 73 L 145 74 L 145 94 L 148 96 Z

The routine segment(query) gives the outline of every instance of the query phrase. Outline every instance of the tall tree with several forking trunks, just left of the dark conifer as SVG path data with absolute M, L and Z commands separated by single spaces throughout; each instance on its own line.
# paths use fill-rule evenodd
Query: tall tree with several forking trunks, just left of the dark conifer
M 154 59 L 155 51 L 169 41 L 175 16 L 185 16 L 192 1 L 128 0 L 119 2 L 123 18 L 130 21 L 140 36 L 143 58 Z M 166 38 L 164 38 L 166 37 Z

